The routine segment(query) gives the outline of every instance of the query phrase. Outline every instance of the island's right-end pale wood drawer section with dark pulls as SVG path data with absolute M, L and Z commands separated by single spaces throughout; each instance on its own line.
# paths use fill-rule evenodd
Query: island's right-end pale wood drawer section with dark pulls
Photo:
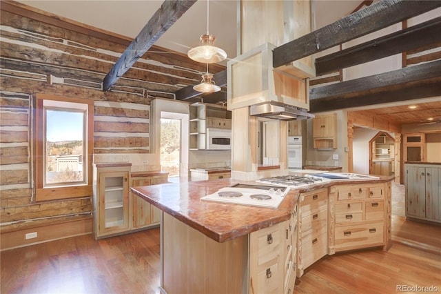
M 384 184 L 338 185 L 334 204 L 334 248 L 331 252 L 371 246 L 387 247 L 387 187 Z

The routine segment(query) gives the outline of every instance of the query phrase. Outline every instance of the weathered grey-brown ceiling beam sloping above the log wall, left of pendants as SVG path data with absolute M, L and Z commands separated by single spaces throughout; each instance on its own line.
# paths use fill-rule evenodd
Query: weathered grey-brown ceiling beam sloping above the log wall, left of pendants
M 196 1 L 197 0 L 164 1 L 161 8 L 156 10 L 152 18 L 105 76 L 103 79 L 103 91 L 110 90 L 112 85 L 115 84 Z

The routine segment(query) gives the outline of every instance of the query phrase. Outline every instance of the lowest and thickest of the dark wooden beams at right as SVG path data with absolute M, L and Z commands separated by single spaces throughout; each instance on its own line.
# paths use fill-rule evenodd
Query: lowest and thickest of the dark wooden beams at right
M 310 90 L 311 112 L 441 96 L 441 60 Z

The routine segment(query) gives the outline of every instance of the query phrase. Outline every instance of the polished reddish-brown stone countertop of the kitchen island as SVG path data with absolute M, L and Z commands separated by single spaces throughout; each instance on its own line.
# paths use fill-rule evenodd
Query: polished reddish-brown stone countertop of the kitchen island
M 226 186 L 238 183 L 256 184 L 236 179 L 159 184 L 130 189 L 150 204 L 207 235 L 207 237 L 216 242 L 225 242 L 289 219 L 300 193 L 336 184 L 382 183 L 389 182 L 394 178 L 393 176 L 380 176 L 380 179 L 326 182 L 307 188 L 291 188 L 277 209 L 201 201 L 201 197 L 213 194 Z

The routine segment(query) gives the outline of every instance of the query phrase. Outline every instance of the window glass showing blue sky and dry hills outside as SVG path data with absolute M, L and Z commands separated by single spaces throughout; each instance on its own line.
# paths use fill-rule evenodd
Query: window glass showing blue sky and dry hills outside
M 45 186 L 84 182 L 85 112 L 45 109 Z

